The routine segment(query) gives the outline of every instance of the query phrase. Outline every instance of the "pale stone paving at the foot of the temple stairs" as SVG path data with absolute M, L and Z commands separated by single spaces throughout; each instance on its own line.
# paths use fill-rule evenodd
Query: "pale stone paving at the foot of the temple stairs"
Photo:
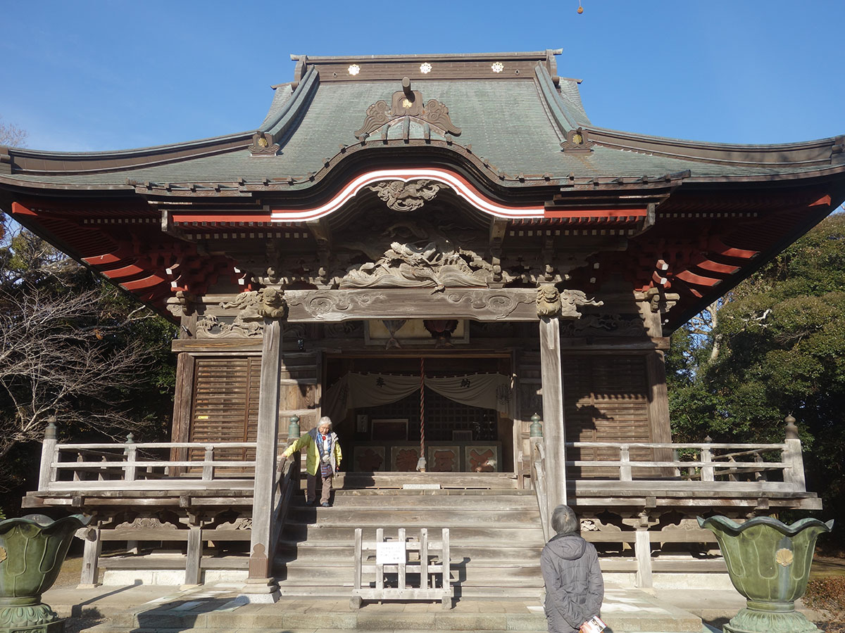
M 547 630 L 538 598 L 463 598 L 449 610 L 442 609 L 440 603 L 390 602 L 364 603 L 362 609 L 351 609 L 347 598 L 281 598 L 275 604 L 250 604 L 238 595 L 240 588 L 222 584 L 183 590 L 152 585 L 64 587 L 47 592 L 44 599 L 60 615 L 82 616 L 69 620 L 70 630 L 90 633 Z M 742 601 L 735 606 L 733 613 Z M 100 624 L 95 624 L 98 617 Z M 629 588 L 606 587 L 602 618 L 610 633 L 706 631 L 699 616 Z M 89 628 L 84 628 L 86 625 Z

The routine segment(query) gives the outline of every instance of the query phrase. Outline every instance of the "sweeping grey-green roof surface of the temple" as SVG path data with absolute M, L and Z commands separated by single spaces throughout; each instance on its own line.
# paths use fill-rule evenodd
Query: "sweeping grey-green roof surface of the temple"
M 49 175 L 13 170 L 11 178 L 91 186 L 122 185 L 127 180 L 179 183 L 231 182 L 243 178 L 254 181 L 316 173 L 324 166 L 325 160 L 338 153 L 341 146 L 359 143 L 354 132 L 362 126 L 368 106 L 378 100 L 390 103 L 393 93 L 401 89 L 401 84 L 393 79 L 321 83 L 318 75 L 317 68 L 309 67 L 295 90 L 292 84 L 282 84 L 275 89 L 270 111 L 257 129 L 274 135 L 275 142 L 280 145 L 277 155 L 253 156 L 244 144 L 243 149 L 222 149 L 215 155 L 188 156 L 159 165 L 129 165 L 88 173 L 83 169 L 77 173 L 57 171 Z M 461 134 L 454 137 L 454 143 L 472 145 L 472 154 L 488 160 L 494 170 L 511 176 L 549 174 L 553 177 L 657 178 L 685 170 L 689 170 L 692 177 L 702 178 L 777 176 L 825 167 L 823 160 L 777 162 L 771 156 L 756 164 L 748 160 L 710 160 L 707 156 L 721 151 L 722 146 L 707 143 L 693 143 L 701 150 L 701 155 L 696 158 L 684 157 L 684 151 L 619 149 L 626 147 L 626 143 L 636 145 L 646 142 L 662 147 L 661 143 L 667 144 L 669 139 L 628 135 L 624 137 L 628 140 L 617 143 L 613 134 L 619 133 L 591 125 L 575 80 L 552 78 L 541 63 L 537 64 L 533 77 L 506 80 L 415 78 L 413 89 L 419 90 L 426 102 L 439 100 L 449 108 L 452 122 L 461 128 Z M 588 138 L 597 141 L 591 152 L 570 153 L 561 149 L 560 143 L 565 140 L 565 134 L 575 127 L 583 127 Z M 390 138 L 394 138 L 395 134 L 391 132 Z M 832 146 L 832 139 L 830 141 L 828 144 Z M 614 143 L 616 147 L 612 146 Z M 674 143 L 674 146 L 679 145 Z M 383 143 L 372 145 L 358 151 L 373 155 L 384 151 Z M 738 146 L 724 147 L 736 149 Z M 737 151 L 741 150 L 739 146 Z M 842 155 L 838 154 L 839 157 Z M 830 159 L 826 165 L 829 167 L 831 162 L 839 160 Z M 491 174 L 494 173 L 491 171 Z M 9 177 L 4 178 L 8 181 Z M 523 186 L 515 180 L 504 180 L 500 184 Z M 297 183 L 294 188 L 308 186 L 305 181 Z

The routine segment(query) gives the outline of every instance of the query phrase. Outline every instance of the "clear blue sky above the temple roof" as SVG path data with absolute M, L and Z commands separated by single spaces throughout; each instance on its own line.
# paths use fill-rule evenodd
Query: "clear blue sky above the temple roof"
M 253 129 L 290 53 L 564 49 L 602 127 L 781 143 L 845 133 L 845 1 L 553 3 L 0 0 L 0 116 L 34 149 Z

